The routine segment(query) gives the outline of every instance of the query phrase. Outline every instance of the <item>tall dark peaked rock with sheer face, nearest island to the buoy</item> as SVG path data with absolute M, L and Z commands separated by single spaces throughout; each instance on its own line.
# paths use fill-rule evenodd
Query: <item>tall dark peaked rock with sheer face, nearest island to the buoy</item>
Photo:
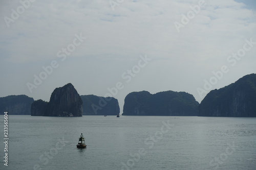
M 71 83 L 55 88 L 45 116 L 82 116 L 82 100 Z

